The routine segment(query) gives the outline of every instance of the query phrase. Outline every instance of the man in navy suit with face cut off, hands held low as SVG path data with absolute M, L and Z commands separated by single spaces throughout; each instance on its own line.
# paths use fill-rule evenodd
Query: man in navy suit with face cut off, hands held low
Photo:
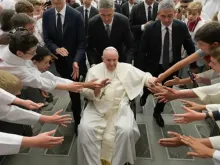
M 85 64 L 85 30 L 81 14 L 65 0 L 52 0 L 55 8 L 43 14 L 44 42 L 57 55 L 56 69 L 63 78 L 79 80 Z M 70 93 L 76 125 L 80 122 L 81 101 L 79 93 Z M 77 131 L 77 127 L 76 130 Z

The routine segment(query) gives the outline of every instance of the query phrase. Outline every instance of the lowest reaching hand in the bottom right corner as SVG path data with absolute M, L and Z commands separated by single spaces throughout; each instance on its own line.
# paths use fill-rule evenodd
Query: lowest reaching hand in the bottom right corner
M 196 156 L 200 158 L 212 158 L 214 149 L 208 148 L 204 144 L 202 144 L 199 140 L 195 139 L 192 136 L 181 136 L 181 141 L 191 147 L 194 151 L 188 152 L 187 154 L 190 156 Z

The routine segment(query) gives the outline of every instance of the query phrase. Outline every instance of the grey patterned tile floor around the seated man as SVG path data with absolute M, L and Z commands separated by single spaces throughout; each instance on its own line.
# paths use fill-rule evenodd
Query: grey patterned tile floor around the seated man
M 178 125 L 173 122 L 174 113 L 183 113 L 179 100 L 167 103 L 163 113 L 165 127 L 158 127 L 152 117 L 155 99 L 148 96 L 147 103 L 140 107 L 139 98 L 136 99 L 137 118 L 141 137 L 136 144 L 137 160 L 135 165 L 213 165 L 211 159 L 200 159 L 189 157 L 186 153 L 188 147 L 164 148 L 158 145 L 158 140 L 168 137 L 167 131 L 175 131 L 184 135 L 194 137 L 208 137 L 210 127 L 206 122 L 194 122 L 187 125 Z M 71 114 L 70 99 L 68 93 L 55 97 L 53 102 L 45 107 L 43 114 L 51 115 L 56 111 L 64 109 L 64 114 Z M 40 124 L 34 126 L 34 134 L 56 129 L 55 136 L 64 136 L 62 145 L 54 149 L 21 148 L 20 154 L 12 156 L 1 156 L 1 165 L 77 165 L 76 137 L 73 132 L 74 123 L 68 128 L 58 127 L 53 124 Z

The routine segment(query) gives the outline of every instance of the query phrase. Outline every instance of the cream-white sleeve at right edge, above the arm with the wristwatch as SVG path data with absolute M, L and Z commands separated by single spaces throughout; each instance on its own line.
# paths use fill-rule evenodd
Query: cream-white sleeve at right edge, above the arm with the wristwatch
M 220 104 L 220 83 L 193 88 L 192 90 L 205 104 Z

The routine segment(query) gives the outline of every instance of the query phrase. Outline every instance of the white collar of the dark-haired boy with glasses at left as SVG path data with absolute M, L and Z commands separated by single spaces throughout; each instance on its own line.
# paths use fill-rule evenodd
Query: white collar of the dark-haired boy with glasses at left
M 2 50 L 2 60 L 10 65 L 17 65 L 17 66 L 24 66 L 26 60 L 18 57 L 17 55 L 13 54 L 10 50 L 8 45 L 5 46 Z

